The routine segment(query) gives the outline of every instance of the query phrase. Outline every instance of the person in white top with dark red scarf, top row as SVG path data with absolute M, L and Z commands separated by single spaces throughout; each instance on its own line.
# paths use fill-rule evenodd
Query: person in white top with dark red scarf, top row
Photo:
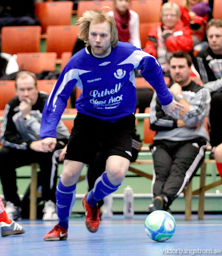
M 114 0 L 114 11 L 108 12 L 114 17 L 120 42 L 129 42 L 141 48 L 139 37 L 139 15 L 129 10 L 130 0 Z

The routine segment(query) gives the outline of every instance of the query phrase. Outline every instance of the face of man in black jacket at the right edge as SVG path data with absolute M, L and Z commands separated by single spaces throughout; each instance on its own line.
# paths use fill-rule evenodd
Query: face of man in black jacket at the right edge
M 209 27 L 207 39 L 211 50 L 215 54 L 222 54 L 222 27 Z

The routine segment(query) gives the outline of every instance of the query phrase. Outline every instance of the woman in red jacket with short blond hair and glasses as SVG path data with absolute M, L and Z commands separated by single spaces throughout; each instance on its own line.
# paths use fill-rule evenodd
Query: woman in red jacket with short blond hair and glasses
M 161 23 L 150 30 L 143 50 L 156 57 L 163 72 L 167 73 L 172 52 L 190 52 L 193 49 L 192 31 L 180 20 L 180 8 L 177 4 L 163 4 L 160 15 Z

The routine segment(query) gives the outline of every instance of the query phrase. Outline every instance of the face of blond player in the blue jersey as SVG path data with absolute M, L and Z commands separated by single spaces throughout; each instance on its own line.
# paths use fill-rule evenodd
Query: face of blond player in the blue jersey
M 95 57 L 104 58 L 111 52 L 111 25 L 91 22 L 89 25 L 89 43 Z

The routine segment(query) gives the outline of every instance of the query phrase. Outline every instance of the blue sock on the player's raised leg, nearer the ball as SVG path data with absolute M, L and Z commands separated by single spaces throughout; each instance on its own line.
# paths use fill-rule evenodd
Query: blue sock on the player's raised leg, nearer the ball
M 102 200 L 105 196 L 110 195 L 112 192 L 118 189 L 119 185 L 113 185 L 104 172 L 99 178 L 97 178 L 94 187 L 87 194 L 86 200 L 91 207 L 95 206 L 99 200 Z

